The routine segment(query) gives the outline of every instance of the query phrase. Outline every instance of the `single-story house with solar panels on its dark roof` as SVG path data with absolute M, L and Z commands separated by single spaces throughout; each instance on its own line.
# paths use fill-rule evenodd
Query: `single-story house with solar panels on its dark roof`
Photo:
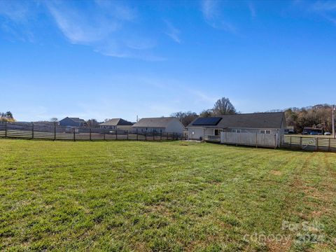
M 239 113 L 210 118 L 196 118 L 188 129 L 188 139 L 200 140 L 205 136 L 221 136 L 221 132 L 284 134 L 285 114 Z

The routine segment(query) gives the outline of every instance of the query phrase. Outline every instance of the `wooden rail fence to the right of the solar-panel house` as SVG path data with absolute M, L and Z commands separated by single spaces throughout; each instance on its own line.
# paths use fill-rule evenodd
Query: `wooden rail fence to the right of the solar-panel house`
M 284 135 L 280 137 L 282 148 L 297 148 L 305 151 L 336 151 L 336 139 L 331 137 L 299 137 Z

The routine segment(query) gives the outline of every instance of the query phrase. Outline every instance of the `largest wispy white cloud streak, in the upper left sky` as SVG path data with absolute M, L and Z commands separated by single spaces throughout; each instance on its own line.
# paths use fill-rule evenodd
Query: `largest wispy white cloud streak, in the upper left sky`
M 97 0 L 91 3 L 90 12 L 70 3 L 46 1 L 45 6 L 71 43 L 90 45 L 95 52 L 112 57 L 162 60 L 148 51 L 155 41 L 137 34 L 132 27 L 137 12 L 123 2 Z

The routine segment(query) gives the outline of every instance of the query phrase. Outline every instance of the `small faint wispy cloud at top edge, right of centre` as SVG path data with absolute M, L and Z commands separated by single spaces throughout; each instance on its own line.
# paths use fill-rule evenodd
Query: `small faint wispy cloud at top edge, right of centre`
M 236 33 L 237 28 L 222 17 L 220 8 L 221 1 L 202 0 L 201 10 L 204 20 L 214 29 L 223 29 L 225 31 Z

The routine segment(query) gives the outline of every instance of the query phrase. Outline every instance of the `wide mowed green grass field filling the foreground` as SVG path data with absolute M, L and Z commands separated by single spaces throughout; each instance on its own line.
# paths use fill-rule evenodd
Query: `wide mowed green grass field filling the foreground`
M 3 139 L 0 154 L 0 250 L 336 250 L 335 153 Z M 324 237 L 295 242 L 283 221 Z

